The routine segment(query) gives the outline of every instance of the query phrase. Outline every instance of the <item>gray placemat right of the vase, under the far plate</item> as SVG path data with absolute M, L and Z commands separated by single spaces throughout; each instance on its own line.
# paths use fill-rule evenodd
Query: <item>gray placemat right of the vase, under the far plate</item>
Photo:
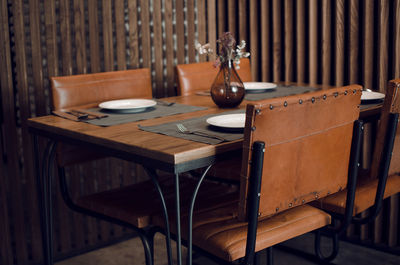
M 274 90 L 270 90 L 265 93 L 247 93 L 244 97 L 246 100 L 262 100 L 267 98 L 278 98 L 278 97 L 286 97 L 291 95 L 303 94 L 308 92 L 314 92 L 317 90 L 321 90 L 321 88 L 315 87 L 306 87 L 306 86 L 282 86 L 278 85 L 278 87 Z

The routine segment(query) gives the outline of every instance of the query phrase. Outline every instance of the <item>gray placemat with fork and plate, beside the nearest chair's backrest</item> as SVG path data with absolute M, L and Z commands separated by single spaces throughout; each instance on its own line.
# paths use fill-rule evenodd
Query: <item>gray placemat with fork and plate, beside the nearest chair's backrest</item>
M 223 112 L 220 114 L 206 115 L 206 116 L 202 116 L 202 117 L 182 120 L 182 121 L 178 121 L 178 122 L 169 122 L 169 123 L 164 123 L 164 124 L 159 124 L 159 125 L 154 125 L 154 126 L 140 126 L 139 125 L 139 128 L 143 131 L 164 134 L 164 135 L 173 136 L 173 137 L 177 137 L 177 138 L 183 138 L 183 139 L 192 140 L 195 142 L 200 142 L 200 143 L 205 143 L 205 144 L 219 144 L 222 142 L 229 142 L 229 141 L 234 141 L 234 140 L 243 138 L 243 130 L 240 130 L 240 131 L 220 130 L 213 126 L 208 125 L 208 123 L 206 122 L 207 118 L 212 117 L 212 116 L 217 116 L 217 115 L 244 113 L 244 112 L 245 112 L 245 110 L 227 111 L 227 112 Z M 182 123 L 189 130 L 196 130 L 196 131 L 201 131 L 201 132 L 205 132 L 205 133 L 212 134 L 212 135 L 217 135 L 218 137 L 224 138 L 224 141 L 215 139 L 212 137 L 204 137 L 204 136 L 199 136 L 199 135 L 195 135 L 195 134 L 181 133 L 178 131 L 178 128 L 176 127 L 177 123 Z

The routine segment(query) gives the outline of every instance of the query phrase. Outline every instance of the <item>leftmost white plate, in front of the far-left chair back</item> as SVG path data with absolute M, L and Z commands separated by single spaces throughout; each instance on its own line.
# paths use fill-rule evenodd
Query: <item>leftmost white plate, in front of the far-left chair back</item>
M 151 99 L 120 99 L 102 102 L 99 107 L 119 113 L 136 113 L 154 107 L 157 102 Z

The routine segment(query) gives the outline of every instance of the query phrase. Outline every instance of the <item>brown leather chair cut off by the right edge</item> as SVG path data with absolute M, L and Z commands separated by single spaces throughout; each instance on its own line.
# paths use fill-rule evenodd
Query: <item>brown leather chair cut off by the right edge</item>
M 366 224 L 375 219 L 382 208 L 382 201 L 400 192 L 400 130 L 396 131 L 400 111 L 400 79 L 389 82 L 378 126 L 371 170 L 358 178 L 351 222 Z M 393 143 L 394 141 L 394 143 Z M 393 153 L 392 153 L 393 151 Z M 343 219 L 346 209 L 347 190 L 335 193 L 312 203 Z M 362 218 L 358 214 L 369 209 Z M 316 236 L 316 254 L 332 260 L 338 253 L 338 234 L 331 234 L 334 247 L 329 256 L 320 251 L 320 235 Z

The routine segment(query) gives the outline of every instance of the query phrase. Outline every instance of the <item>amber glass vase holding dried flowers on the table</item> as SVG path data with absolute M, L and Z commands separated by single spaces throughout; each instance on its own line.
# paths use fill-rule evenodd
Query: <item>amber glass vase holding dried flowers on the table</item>
M 232 61 L 221 64 L 210 92 L 214 103 L 220 108 L 234 108 L 243 101 L 244 85 Z

